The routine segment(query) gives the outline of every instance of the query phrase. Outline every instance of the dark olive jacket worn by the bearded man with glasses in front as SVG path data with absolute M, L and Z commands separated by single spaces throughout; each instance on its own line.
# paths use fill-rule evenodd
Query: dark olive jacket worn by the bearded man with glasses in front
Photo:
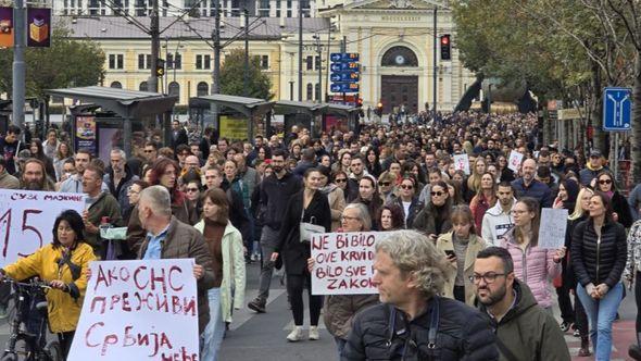
M 480 311 L 486 314 L 502 343 L 512 356 L 501 351 L 505 361 L 569 361 L 569 351 L 563 339 L 563 333 L 554 318 L 537 307 L 532 292 L 519 279 L 514 279 L 516 299 L 514 306 L 500 322 L 490 318 L 485 306 Z

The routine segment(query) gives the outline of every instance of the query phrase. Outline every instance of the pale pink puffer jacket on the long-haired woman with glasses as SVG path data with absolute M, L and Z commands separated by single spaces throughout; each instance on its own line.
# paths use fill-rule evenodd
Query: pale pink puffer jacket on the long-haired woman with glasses
M 501 247 L 506 248 L 514 261 L 514 274 L 528 285 L 542 308 L 552 307 L 550 282 L 561 274 L 561 262 L 554 262 L 554 250 L 528 245 L 525 249 L 516 244 L 514 229 L 503 235 Z

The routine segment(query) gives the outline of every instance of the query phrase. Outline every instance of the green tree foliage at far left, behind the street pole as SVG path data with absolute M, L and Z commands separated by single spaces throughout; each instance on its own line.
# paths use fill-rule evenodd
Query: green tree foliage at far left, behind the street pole
M 89 40 L 72 40 L 70 30 L 56 24 L 51 47 L 27 48 L 26 95 L 45 98 L 46 89 L 97 85 L 104 75 L 104 53 Z M 0 92 L 11 94 L 13 49 L 0 50 Z

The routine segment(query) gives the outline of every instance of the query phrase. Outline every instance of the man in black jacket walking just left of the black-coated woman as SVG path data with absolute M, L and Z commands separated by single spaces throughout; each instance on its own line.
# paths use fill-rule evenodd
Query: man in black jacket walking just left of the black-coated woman
M 266 177 L 260 186 L 259 208 L 264 214 L 264 226 L 261 235 L 261 284 L 259 296 L 248 303 L 251 310 L 265 312 L 265 303 L 269 297 L 269 285 L 274 272 L 274 262 L 269 259 L 279 239 L 280 223 L 286 213 L 289 198 L 301 189 L 301 180 L 285 167 L 285 151 L 276 149 L 272 153 L 274 174 Z

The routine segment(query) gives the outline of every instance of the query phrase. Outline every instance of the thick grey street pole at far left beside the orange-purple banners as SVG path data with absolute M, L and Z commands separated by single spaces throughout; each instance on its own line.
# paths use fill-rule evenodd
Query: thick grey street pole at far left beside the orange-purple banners
M 13 9 L 14 45 L 13 45 L 13 89 L 12 120 L 13 125 L 24 129 L 25 119 L 25 46 L 26 46 L 26 9 L 24 0 L 15 0 Z M 24 132 L 21 133 L 24 137 Z

